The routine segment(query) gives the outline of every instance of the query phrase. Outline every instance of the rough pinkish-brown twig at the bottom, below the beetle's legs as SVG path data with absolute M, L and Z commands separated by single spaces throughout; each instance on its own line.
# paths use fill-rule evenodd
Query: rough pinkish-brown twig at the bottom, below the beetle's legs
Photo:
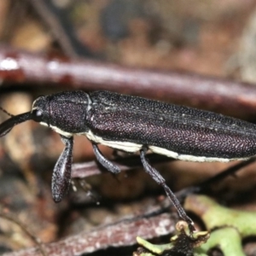
M 137 243 L 136 237 L 144 239 L 165 236 L 175 230 L 177 216 L 162 213 L 151 218 L 130 218 L 115 224 L 109 224 L 69 236 L 64 240 L 45 244 L 49 256 L 85 255 L 108 247 L 125 247 Z M 15 253 L 5 253 L 4 256 L 39 256 L 38 248 L 32 247 Z

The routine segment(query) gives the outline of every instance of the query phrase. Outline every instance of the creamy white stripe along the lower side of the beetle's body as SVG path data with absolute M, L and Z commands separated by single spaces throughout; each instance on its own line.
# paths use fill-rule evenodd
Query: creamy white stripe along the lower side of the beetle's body
M 43 123 L 43 122 L 41 122 L 40 124 L 48 126 L 48 124 Z M 141 148 L 143 148 L 143 144 L 108 141 L 108 140 L 103 139 L 102 137 L 96 136 L 95 134 L 93 134 L 92 131 L 73 134 L 70 132 L 62 131 L 60 128 L 55 127 L 53 125 L 49 125 L 49 127 L 65 137 L 72 137 L 74 135 L 84 135 L 90 141 L 108 146 L 110 148 L 124 150 L 126 152 L 135 153 L 135 152 L 139 151 Z M 172 157 L 173 159 L 193 161 L 193 162 L 229 162 L 231 160 L 247 160 L 247 158 L 228 159 L 228 158 L 218 158 L 218 157 L 195 156 L 195 155 L 191 155 L 191 154 L 178 154 L 177 152 L 174 152 L 172 150 L 168 150 L 166 148 L 160 148 L 160 147 L 156 147 L 156 146 L 148 146 L 148 149 L 150 149 L 152 152 L 154 152 L 156 154 L 164 154 L 168 157 Z

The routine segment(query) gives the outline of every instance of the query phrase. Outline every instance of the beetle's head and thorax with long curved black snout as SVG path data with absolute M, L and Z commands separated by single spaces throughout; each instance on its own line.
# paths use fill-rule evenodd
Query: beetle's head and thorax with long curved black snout
M 86 114 L 90 110 L 90 96 L 84 91 L 64 91 L 40 96 L 33 102 L 32 111 L 15 115 L 0 125 L 0 137 L 15 125 L 34 120 L 48 125 L 63 136 L 86 131 Z

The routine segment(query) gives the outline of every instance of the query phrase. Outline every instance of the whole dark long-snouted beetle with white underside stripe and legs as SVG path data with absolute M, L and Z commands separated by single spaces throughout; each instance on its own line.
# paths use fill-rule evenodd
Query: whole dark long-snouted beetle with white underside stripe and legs
M 256 154 L 256 125 L 195 108 L 127 96 L 106 90 L 86 93 L 64 91 L 40 96 L 32 111 L 12 116 L 0 125 L 0 137 L 26 120 L 46 125 L 61 135 L 65 148 L 55 164 L 52 196 L 60 202 L 71 180 L 73 136 L 92 143 L 96 160 L 113 173 L 119 167 L 106 159 L 98 144 L 125 152 L 140 152 L 143 168 L 165 190 L 179 218 L 195 230 L 164 177 L 150 166 L 146 153 L 165 154 L 177 160 L 247 160 Z

